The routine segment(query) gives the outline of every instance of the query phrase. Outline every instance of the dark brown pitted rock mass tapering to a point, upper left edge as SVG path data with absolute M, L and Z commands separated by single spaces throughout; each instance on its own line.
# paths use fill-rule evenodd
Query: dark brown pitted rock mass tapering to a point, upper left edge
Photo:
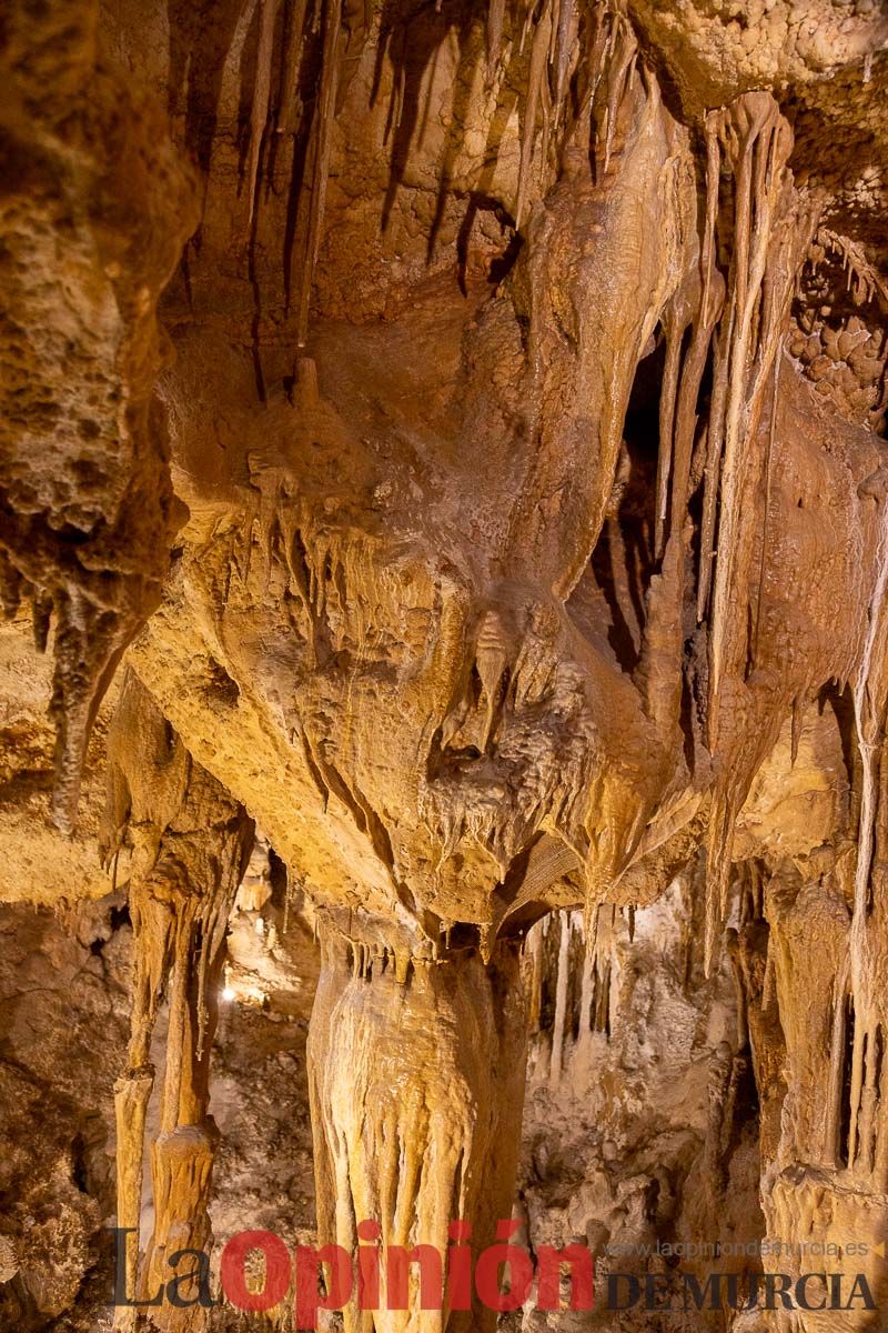
M 99 705 L 168 572 L 157 303 L 198 212 L 196 172 L 160 101 L 99 57 L 97 25 L 97 11 L 67 28 L 49 12 L 4 13 L 4 113 L 20 124 L 21 161 L 44 165 L 39 189 L 28 172 L 7 173 L 0 223 L 0 584 L 7 613 L 32 601 L 37 643 L 52 608 L 51 818 L 65 834 Z

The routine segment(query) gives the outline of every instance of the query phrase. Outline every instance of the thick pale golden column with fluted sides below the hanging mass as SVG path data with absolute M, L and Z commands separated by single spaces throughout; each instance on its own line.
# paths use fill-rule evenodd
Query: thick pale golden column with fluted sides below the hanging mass
M 386 1310 L 385 1249 L 431 1245 L 443 1260 L 463 1221 L 477 1253 L 511 1216 L 526 1062 L 517 945 L 490 962 L 477 948 L 406 961 L 326 932 L 309 1062 L 320 1240 L 351 1254 L 358 1224 L 382 1228 L 382 1309 L 353 1301 L 346 1333 L 493 1329 L 478 1304 L 421 1309 L 415 1264 L 409 1309 Z

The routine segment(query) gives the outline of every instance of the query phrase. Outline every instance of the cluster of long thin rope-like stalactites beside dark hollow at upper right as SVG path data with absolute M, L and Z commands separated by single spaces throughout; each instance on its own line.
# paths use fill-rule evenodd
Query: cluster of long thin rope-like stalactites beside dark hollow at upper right
M 752 777 L 723 753 L 720 706 L 726 682 L 744 678 L 758 655 L 764 541 L 762 564 L 752 565 L 762 540 L 759 493 L 762 488 L 767 509 L 780 348 L 817 201 L 793 188 L 792 133 L 771 93 L 746 93 L 710 113 L 706 149 L 699 281 L 679 293 L 663 320 L 667 356 L 655 545 L 663 557 L 667 540 L 687 523 L 690 495 L 702 487 L 695 603 L 707 657 L 706 745 L 722 772 L 710 838 L 708 970 L 727 916 L 734 821 Z M 724 251 L 731 256 L 727 272 L 718 267 Z M 696 403 L 710 360 L 708 420 L 699 431 Z M 771 423 L 763 431 L 767 404 Z M 751 643 L 748 608 L 754 609 Z

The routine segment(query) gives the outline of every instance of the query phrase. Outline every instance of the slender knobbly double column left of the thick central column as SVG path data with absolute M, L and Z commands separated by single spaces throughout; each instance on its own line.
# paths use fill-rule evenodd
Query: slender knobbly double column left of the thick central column
M 216 1030 L 225 932 L 253 845 L 253 821 L 190 758 L 148 692 L 128 676 L 109 736 L 109 802 L 105 844 L 130 860 L 133 1004 L 126 1069 L 117 1081 L 117 1225 L 130 1232 L 126 1294 L 153 1300 L 170 1277 L 170 1257 L 206 1250 L 216 1125 L 209 1114 L 209 1052 Z M 166 1058 L 160 1134 L 150 1165 L 154 1230 L 140 1273 L 142 1156 L 154 1086 L 150 1041 L 168 1001 Z M 190 1265 L 193 1268 L 193 1264 Z M 182 1273 L 185 1269 L 182 1269 Z M 197 1290 L 181 1284 L 181 1297 Z M 201 1305 L 164 1302 L 153 1322 L 196 1333 Z M 134 1310 L 117 1310 L 132 1328 Z

